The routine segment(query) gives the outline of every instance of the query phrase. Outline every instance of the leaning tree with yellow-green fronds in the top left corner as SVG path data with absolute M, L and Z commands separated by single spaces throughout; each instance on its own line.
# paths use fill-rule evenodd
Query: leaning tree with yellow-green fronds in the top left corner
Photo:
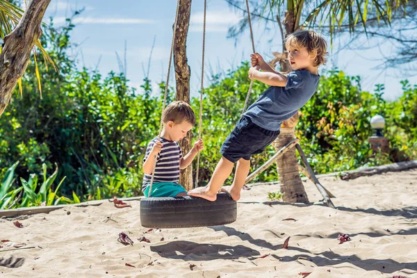
M 17 83 L 22 94 L 22 75 L 24 74 L 33 51 L 35 72 L 40 77 L 36 51 L 38 48 L 47 63 L 54 65 L 47 51 L 42 47 L 39 37 L 42 33 L 40 24 L 44 12 L 51 0 L 32 0 L 26 11 L 6 0 L 0 0 L 0 115 L 10 102 Z

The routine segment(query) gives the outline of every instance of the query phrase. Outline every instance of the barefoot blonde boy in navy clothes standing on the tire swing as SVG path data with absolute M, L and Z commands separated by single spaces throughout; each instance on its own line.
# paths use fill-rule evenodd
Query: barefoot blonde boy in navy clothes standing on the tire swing
M 325 40 L 314 31 L 303 30 L 289 35 L 285 44 L 293 69 L 288 74 L 274 70 L 261 55 L 251 55 L 249 78 L 270 88 L 247 108 L 224 141 L 220 149 L 222 158 L 208 185 L 190 190 L 188 195 L 215 201 L 237 162 L 233 183 L 224 186 L 222 191 L 236 201 L 240 199 L 240 190 L 250 170 L 250 156 L 263 152 L 279 135 L 282 122 L 293 117 L 316 92 L 320 79 L 318 67 L 326 63 Z

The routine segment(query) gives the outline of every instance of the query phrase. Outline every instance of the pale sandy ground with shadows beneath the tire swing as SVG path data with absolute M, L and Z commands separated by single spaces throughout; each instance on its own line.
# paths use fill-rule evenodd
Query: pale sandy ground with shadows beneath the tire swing
M 243 191 L 238 220 L 226 226 L 144 234 L 139 201 L 32 215 L 19 220 L 24 228 L 0 219 L 0 240 L 34 247 L 1 248 L 8 267 L 0 277 L 417 277 L 417 170 L 320 182 L 336 195 L 337 210 L 319 202 L 311 182 L 309 205 L 271 202 L 267 193 L 279 186 L 256 185 Z M 133 245 L 117 241 L 121 231 Z M 339 244 L 341 233 L 352 240 Z

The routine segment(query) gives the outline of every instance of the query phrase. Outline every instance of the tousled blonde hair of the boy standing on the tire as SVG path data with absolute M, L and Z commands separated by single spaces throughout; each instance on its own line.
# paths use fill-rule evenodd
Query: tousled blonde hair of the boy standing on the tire
M 318 33 L 309 30 L 299 30 L 295 31 L 285 40 L 285 47 L 289 49 L 290 47 L 300 49 L 305 47 L 309 54 L 313 51 L 317 51 L 316 59 L 314 60 L 313 65 L 318 67 L 319 65 L 325 65 L 327 62 L 327 43 Z

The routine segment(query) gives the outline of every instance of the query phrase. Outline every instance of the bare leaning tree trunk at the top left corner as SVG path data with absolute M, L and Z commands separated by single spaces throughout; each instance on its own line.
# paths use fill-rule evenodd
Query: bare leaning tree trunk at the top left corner
M 33 45 L 42 34 L 40 23 L 51 0 L 32 0 L 12 33 L 4 37 L 0 54 L 0 115 L 10 103 L 17 81 L 24 74 Z

